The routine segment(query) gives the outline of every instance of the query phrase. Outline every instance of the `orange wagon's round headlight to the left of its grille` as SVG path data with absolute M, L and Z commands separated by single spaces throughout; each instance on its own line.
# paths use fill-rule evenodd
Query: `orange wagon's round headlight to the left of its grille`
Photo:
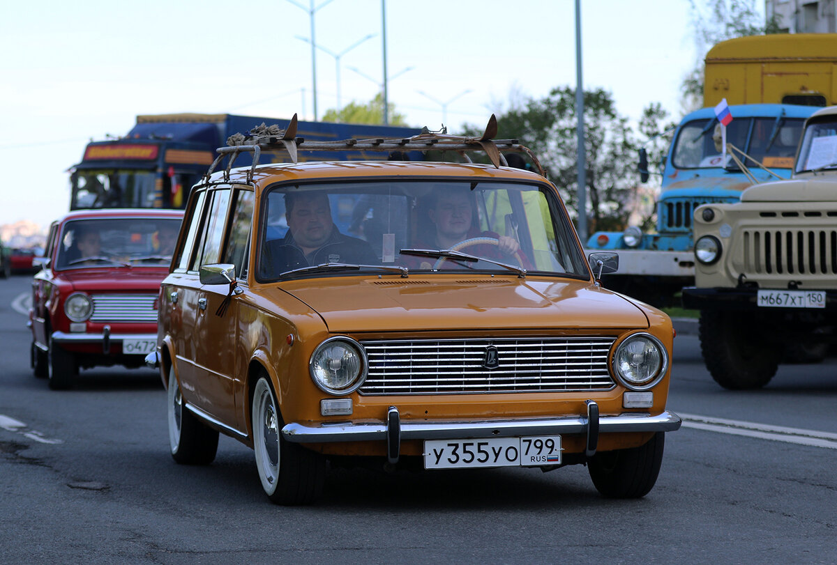
M 366 354 L 353 339 L 330 338 L 321 343 L 308 369 L 320 389 L 329 394 L 349 394 L 366 378 Z

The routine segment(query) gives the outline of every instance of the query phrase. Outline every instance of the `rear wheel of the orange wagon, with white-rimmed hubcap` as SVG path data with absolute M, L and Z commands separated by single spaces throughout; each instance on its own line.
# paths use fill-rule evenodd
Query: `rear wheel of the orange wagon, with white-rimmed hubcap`
M 168 369 L 168 441 L 174 461 L 183 465 L 209 465 L 218 453 L 218 430 L 198 420 L 183 405 L 174 365 Z

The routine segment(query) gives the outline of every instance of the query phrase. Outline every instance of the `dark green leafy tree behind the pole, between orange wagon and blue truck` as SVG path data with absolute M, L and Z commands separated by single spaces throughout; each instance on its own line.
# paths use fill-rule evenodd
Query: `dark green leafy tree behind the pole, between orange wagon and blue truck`
M 663 129 L 665 110 L 660 104 L 645 109 L 639 124 L 638 140 L 629 120 L 616 109 L 612 95 L 595 89 L 584 93 L 585 184 L 588 194 L 590 232 L 621 231 L 628 224 L 632 202 L 637 198 L 639 172 L 637 151 L 647 140 L 654 163 L 660 162 L 666 144 L 657 134 Z M 578 139 L 576 134 L 575 89 L 559 87 L 543 99 L 512 102 L 497 115 L 498 139 L 516 139 L 538 156 L 547 177 L 553 181 L 567 203 L 571 215 L 578 210 Z M 466 127 L 465 135 L 480 135 L 482 130 Z M 653 167 L 652 167 L 653 168 Z M 641 223 L 653 225 L 654 206 L 644 212 Z

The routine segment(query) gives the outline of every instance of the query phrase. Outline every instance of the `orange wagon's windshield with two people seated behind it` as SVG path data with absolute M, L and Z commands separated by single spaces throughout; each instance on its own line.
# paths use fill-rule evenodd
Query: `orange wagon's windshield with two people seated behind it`
M 508 182 L 275 186 L 262 199 L 259 279 L 347 272 L 589 276 L 551 191 Z M 317 267 L 321 266 L 321 267 Z

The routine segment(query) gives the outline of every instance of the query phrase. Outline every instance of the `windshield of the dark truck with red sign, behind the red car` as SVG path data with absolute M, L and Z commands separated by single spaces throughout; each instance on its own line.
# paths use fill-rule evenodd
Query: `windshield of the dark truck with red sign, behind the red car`
M 154 171 L 75 171 L 70 176 L 69 209 L 154 207 L 156 180 Z

